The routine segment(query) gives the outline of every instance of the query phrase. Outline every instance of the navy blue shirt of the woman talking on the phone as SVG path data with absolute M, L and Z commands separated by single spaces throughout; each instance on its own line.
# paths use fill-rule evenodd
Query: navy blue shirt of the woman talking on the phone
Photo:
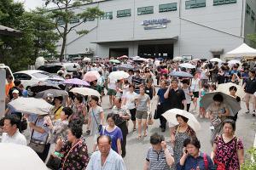
M 208 169 L 211 169 L 213 167 L 213 162 L 210 156 L 207 156 L 207 161 Z M 200 169 L 207 169 L 205 166 L 204 154 L 201 152 L 200 156 L 196 158 L 189 155 L 183 166 L 181 166 L 179 162 L 177 163 L 177 170 L 195 170 L 196 167 L 199 167 Z

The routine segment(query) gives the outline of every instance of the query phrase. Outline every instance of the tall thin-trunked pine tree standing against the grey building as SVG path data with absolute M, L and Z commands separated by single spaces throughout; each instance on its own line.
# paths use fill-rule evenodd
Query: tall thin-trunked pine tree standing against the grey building
M 104 13 L 99 8 L 86 8 L 80 10 L 79 13 L 73 11 L 74 8 L 79 8 L 83 3 L 90 3 L 91 0 L 44 0 L 45 4 L 52 3 L 55 9 L 51 10 L 51 17 L 55 20 L 55 28 L 62 39 L 60 60 L 64 58 L 64 51 L 67 43 L 67 35 L 70 31 L 76 31 L 75 28 L 82 25 L 87 20 L 96 19 Z M 79 19 L 79 22 L 73 25 L 69 23 Z M 86 34 L 88 31 L 76 31 L 78 34 Z

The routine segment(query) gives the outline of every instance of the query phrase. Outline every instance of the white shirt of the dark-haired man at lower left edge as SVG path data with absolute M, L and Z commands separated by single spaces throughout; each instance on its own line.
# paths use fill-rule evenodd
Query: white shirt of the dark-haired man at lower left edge
M 9 136 L 8 133 L 3 133 L 1 142 L 26 145 L 26 137 L 17 129 L 13 136 Z

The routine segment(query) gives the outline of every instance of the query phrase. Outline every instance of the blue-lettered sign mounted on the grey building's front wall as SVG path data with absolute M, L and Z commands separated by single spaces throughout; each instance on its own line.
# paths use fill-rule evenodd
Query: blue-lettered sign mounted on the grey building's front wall
M 166 28 L 170 22 L 171 20 L 168 19 L 143 20 L 141 25 L 144 26 L 144 30 L 154 30 Z

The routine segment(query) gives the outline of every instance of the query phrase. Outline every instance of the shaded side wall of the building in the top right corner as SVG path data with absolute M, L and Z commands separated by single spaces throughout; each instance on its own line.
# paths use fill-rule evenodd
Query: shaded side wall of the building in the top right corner
M 251 11 L 253 10 L 253 12 L 255 14 L 255 20 L 252 19 L 252 12 L 250 14 L 247 14 L 247 12 L 246 12 L 247 4 L 251 8 Z M 250 44 L 250 41 L 247 39 L 247 34 L 256 33 L 256 1 L 255 0 L 246 0 L 244 7 L 245 7 L 244 37 L 245 37 L 245 42 L 247 44 Z

